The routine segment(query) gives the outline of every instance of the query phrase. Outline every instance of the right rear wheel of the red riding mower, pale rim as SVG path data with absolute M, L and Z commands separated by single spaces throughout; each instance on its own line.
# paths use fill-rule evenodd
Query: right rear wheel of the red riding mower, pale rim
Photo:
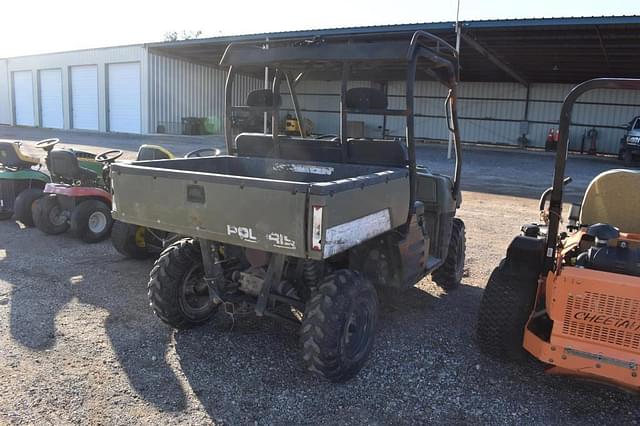
M 111 209 L 100 200 L 82 201 L 71 213 L 71 232 L 85 243 L 97 243 L 109 238 L 111 225 Z

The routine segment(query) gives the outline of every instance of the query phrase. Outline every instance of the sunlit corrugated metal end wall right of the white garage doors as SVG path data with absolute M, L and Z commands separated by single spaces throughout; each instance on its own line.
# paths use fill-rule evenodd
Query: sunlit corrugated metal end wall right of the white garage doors
M 208 130 L 223 132 L 223 70 L 149 53 L 149 131 L 180 133 L 183 117 L 208 118 Z M 238 76 L 235 102 L 244 105 L 251 90 L 262 88 L 264 81 Z

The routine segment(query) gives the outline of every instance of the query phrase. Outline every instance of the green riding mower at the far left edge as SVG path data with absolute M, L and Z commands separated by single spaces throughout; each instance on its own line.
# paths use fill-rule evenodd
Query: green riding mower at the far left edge
M 40 168 L 40 160 L 22 152 L 20 142 L 0 142 L 0 220 L 14 216 L 33 226 L 32 205 L 51 181 Z

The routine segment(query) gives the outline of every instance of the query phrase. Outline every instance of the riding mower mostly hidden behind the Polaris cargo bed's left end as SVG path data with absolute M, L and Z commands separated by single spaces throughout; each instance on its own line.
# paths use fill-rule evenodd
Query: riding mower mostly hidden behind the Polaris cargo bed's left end
M 219 149 L 203 148 L 189 152 L 185 158 L 211 157 L 220 155 Z M 171 160 L 176 158 L 169 150 L 156 145 L 142 145 L 138 149 L 136 161 Z M 138 226 L 114 220 L 111 229 L 113 247 L 123 256 L 133 259 L 148 259 L 162 252 L 175 242 L 177 234 Z

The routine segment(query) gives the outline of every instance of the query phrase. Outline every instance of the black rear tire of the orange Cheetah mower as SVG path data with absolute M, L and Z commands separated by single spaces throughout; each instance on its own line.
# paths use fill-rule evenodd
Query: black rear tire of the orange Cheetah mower
M 535 272 L 509 273 L 503 260 L 493 270 L 480 302 L 476 337 L 480 350 L 503 361 L 524 361 L 524 331 L 538 289 Z

